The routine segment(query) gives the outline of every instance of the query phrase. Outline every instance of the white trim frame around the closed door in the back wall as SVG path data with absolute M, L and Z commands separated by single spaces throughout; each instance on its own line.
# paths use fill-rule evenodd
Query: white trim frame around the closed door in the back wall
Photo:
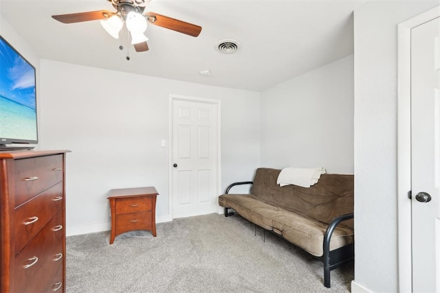
M 174 190 L 173 190 L 173 166 L 171 165 L 173 163 L 173 147 L 174 147 L 174 141 L 173 141 L 173 102 L 179 100 L 179 101 L 186 101 L 186 102 L 197 102 L 197 103 L 205 103 L 205 104 L 213 104 L 216 106 L 217 109 L 217 182 L 216 185 L 216 191 L 217 194 L 221 194 L 221 101 L 219 99 L 208 99 L 205 97 L 190 97 L 186 95 L 175 95 L 170 94 L 169 95 L 169 102 L 168 102 L 168 117 L 169 117 L 169 127 L 168 127 L 168 190 L 169 190 L 169 197 L 168 197 L 168 210 L 169 214 L 171 216 L 171 219 L 174 219 L 173 215 L 173 201 L 174 201 Z M 217 213 L 221 213 L 221 209 L 219 206 L 219 203 L 216 203 L 217 205 Z

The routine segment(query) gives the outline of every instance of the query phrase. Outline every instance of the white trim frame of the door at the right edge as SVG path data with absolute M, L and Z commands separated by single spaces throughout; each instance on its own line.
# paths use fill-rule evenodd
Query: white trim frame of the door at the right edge
M 397 27 L 397 241 L 399 292 L 412 292 L 411 30 L 440 17 L 440 6 Z

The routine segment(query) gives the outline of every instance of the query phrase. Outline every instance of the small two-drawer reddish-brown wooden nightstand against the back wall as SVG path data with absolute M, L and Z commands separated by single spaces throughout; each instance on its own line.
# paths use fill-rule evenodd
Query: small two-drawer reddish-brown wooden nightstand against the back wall
M 109 191 L 110 244 L 113 244 L 116 236 L 133 230 L 151 231 L 156 237 L 157 194 L 155 187 L 111 189 Z

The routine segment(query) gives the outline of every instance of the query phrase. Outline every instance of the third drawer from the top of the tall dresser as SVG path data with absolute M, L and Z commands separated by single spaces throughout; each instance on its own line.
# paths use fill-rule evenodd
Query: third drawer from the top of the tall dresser
M 14 259 L 13 292 L 45 292 L 63 266 L 63 210 Z M 54 231 L 56 230 L 56 231 Z M 58 255 L 61 253 L 61 255 Z

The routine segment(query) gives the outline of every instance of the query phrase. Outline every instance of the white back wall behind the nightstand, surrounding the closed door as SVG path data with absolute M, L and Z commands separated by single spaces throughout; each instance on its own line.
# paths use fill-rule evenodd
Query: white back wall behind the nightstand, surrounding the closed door
M 171 220 L 169 95 L 221 100 L 222 190 L 259 166 L 260 94 L 41 61 L 41 148 L 68 149 L 67 234 L 109 229 L 109 189 L 155 186 Z

